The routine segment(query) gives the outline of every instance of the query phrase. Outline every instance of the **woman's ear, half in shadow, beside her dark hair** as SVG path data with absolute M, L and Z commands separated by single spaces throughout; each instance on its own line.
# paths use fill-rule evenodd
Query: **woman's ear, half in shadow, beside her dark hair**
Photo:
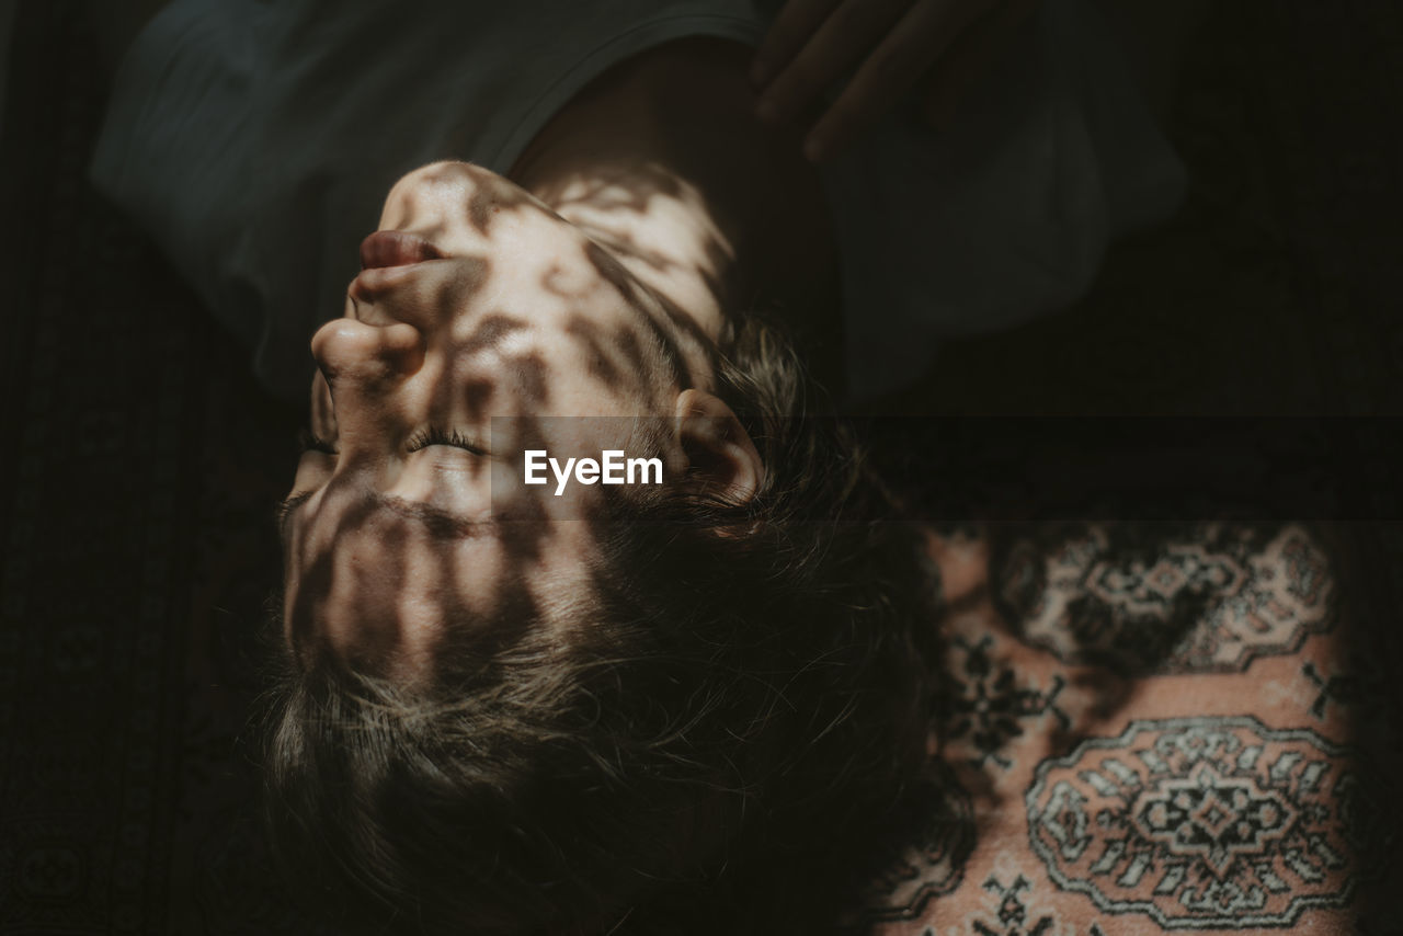
M 749 502 L 765 484 L 765 463 L 731 407 L 693 389 L 678 394 L 675 413 L 692 483 L 734 504 Z

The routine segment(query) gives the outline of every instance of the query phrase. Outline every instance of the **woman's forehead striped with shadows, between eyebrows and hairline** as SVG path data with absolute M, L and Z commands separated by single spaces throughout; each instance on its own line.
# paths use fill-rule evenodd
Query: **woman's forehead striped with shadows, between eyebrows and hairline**
M 285 637 L 303 660 L 330 654 L 366 671 L 424 675 L 446 646 L 550 627 L 592 591 L 585 522 L 464 530 L 421 505 L 372 497 L 355 509 L 295 512 L 288 528 Z

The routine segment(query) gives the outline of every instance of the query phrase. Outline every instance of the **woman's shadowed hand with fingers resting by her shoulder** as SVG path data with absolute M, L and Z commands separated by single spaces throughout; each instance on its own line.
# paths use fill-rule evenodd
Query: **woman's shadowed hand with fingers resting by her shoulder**
M 793 121 L 854 66 L 852 81 L 812 125 L 804 154 L 822 161 L 908 91 L 946 126 L 964 93 L 1016 35 L 1038 0 L 788 0 L 751 67 L 758 114 Z

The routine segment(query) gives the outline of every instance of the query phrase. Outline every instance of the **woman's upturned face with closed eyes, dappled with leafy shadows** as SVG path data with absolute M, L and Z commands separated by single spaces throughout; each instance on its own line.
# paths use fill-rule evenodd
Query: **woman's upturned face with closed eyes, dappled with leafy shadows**
M 528 493 L 523 449 L 626 448 L 631 417 L 671 415 L 707 365 L 609 251 L 494 173 L 417 170 L 380 229 L 403 234 L 366 240 L 345 316 L 311 341 L 283 612 L 299 654 L 412 672 L 457 622 L 588 594 L 589 501 Z

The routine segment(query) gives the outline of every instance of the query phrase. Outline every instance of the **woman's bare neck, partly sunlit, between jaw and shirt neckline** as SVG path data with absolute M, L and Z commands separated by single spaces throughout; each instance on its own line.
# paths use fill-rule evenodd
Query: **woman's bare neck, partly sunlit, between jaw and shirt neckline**
M 509 175 L 713 341 L 731 316 L 767 310 L 836 349 L 821 182 L 796 139 L 753 118 L 748 56 L 716 39 L 636 56 L 563 108 Z

